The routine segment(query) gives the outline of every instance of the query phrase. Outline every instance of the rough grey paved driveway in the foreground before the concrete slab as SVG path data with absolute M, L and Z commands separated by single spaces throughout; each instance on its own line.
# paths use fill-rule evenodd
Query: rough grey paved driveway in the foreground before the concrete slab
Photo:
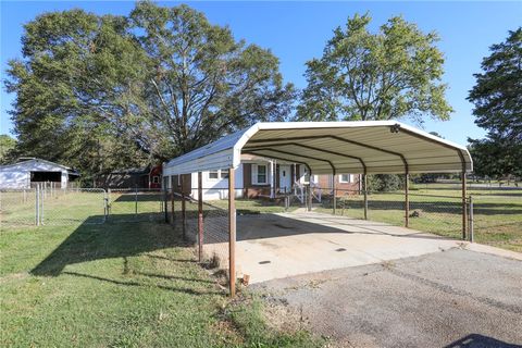
M 522 262 L 499 256 L 451 249 L 253 289 L 333 347 L 522 347 Z

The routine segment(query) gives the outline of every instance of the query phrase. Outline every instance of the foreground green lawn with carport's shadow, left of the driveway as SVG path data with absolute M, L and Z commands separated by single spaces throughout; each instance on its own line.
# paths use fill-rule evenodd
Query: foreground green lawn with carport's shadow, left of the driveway
M 2 347 L 314 347 L 231 302 L 172 226 L 3 228 Z

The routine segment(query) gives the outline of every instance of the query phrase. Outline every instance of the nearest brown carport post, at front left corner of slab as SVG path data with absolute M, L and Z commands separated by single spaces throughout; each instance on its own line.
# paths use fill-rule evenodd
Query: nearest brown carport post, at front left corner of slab
M 236 295 L 236 192 L 235 170 L 228 170 L 228 281 L 231 297 Z

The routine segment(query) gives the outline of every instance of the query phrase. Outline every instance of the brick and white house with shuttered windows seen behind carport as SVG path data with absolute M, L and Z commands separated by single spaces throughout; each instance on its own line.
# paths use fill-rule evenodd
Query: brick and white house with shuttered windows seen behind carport
M 174 187 L 177 192 L 188 192 L 192 198 L 198 197 L 198 173 L 164 176 L 163 186 Z M 337 196 L 359 189 L 358 175 L 336 175 Z M 275 179 L 274 179 L 275 178 Z M 332 194 L 333 176 L 312 175 L 312 187 L 315 192 Z M 182 183 L 183 182 L 183 183 Z M 264 158 L 244 154 L 241 164 L 236 169 L 235 177 L 236 198 L 274 198 L 285 192 L 302 195 L 304 186 L 310 183 L 307 167 L 300 164 L 274 161 Z M 225 199 L 228 197 L 228 171 L 216 170 L 202 172 L 203 200 Z

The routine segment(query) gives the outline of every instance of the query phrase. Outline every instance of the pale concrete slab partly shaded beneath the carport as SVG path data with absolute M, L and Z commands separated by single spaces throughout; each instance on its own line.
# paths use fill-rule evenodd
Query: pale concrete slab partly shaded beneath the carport
M 316 212 L 237 219 L 238 276 L 250 283 L 440 252 L 461 243 L 384 223 Z

